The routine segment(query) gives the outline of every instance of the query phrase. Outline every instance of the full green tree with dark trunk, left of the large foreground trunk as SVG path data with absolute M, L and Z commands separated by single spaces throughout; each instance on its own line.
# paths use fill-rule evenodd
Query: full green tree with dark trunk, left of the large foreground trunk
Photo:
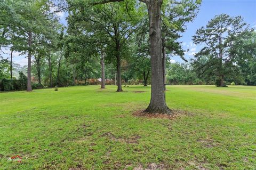
M 110 55 L 106 59 L 112 60 L 117 69 L 117 92 L 122 92 L 121 62 L 124 55 L 123 49 L 127 45 L 127 40 L 134 31 L 141 26 L 138 22 L 140 13 L 134 10 L 133 1 L 122 3 L 92 3 L 95 6 L 89 7 L 88 4 L 70 2 L 73 12 L 70 15 L 79 22 L 79 29 L 85 33 L 91 33 L 91 42 L 97 42 L 107 45 L 107 48 L 113 52 L 115 60 Z M 74 7 L 75 6 L 75 7 Z M 74 19 L 73 19 L 74 20 Z M 108 53 L 109 54 L 109 53 Z

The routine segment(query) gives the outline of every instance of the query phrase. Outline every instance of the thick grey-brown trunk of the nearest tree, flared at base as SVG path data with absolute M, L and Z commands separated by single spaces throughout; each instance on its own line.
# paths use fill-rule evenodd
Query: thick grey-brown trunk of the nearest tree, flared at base
M 151 56 L 151 99 L 145 112 L 151 114 L 171 114 L 164 99 L 161 6 L 162 0 L 149 0 L 147 3 L 149 15 L 149 37 Z

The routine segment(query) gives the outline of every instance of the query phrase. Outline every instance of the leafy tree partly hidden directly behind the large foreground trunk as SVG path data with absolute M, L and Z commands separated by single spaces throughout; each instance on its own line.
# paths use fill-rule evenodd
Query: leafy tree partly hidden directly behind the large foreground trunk
M 164 1 L 162 7 L 162 54 L 163 54 L 163 80 L 165 83 L 166 55 L 178 55 L 183 58 L 184 50 L 178 38 L 186 30 L 186 23 L 193 21 L 198 12 L 200 0 Z

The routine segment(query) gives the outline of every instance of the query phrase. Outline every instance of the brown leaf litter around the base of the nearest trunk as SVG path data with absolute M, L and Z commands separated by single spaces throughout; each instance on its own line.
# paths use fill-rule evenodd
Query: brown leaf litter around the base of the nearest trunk
M 167 119 L 174 119 L 180 115 L 188 115 L 188 111 L 184 110 L 171 110 L 172 114 L 151 114 L 149 112 L 145 112 L 145 110 L 137 110 L 132 113 L 133 116 L 136 117 L 147 117 L 147 118 L 167 118 Z

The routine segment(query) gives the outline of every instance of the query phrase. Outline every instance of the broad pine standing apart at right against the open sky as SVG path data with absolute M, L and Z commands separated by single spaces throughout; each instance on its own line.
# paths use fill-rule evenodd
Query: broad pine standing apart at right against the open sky
M 226 86 L 225 78 L 237 71 L 237 56 L 232 55 L 234 42 L 248 29 L 242 17 L 227 14 L 216 15 L 206 27 L 198 29 L 193 41 L 204 47 L 195 55 L 194 67 L 197 72 L 214 75 L 217 86 Z

